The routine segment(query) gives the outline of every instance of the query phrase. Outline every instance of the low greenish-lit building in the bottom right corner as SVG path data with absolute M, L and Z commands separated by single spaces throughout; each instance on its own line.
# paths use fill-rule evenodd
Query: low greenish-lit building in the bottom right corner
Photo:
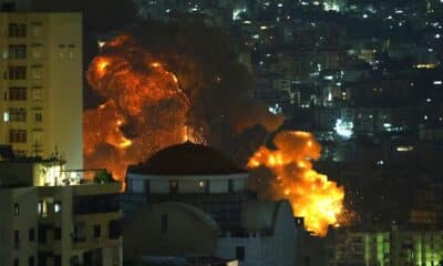
M 327 265 L 436 266 L 443 259 L 443 232 L 339 229 L 329 236 Z M 332 241 L 331 241 L 332 239 Z

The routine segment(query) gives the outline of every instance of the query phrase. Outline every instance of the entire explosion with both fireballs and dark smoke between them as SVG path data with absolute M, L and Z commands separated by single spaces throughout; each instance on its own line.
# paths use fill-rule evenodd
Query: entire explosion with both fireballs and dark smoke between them
M 109 40 L 86 72 L 103 101 L 83 114 L 85 167 L 105 167 L 123 181 L 128 165 L 185 141 L 224 150 L 240 166 L 281 125 L 281 115 L 251 99 L 250 73 L 216 30 L 176 23 L 134 32 L 144 38 Z M 343 212 L 344 193 L 312 170 L 320 145 L 303 132 L 281 132 L 274 141 L 277 150 L 261 146 L 248 161 L 272 173 L 261 175 L 259 194 L 289 198 L 307 228 L 324 235 Z

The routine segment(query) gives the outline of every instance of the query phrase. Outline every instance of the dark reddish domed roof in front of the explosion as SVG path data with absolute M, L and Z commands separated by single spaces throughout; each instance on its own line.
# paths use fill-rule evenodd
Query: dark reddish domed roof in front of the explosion
M 222 152 L 185 142 L 155 153 L 145 163 L 131 166 L 131 173 L 148 175 L 210 175 L 244 173 Z

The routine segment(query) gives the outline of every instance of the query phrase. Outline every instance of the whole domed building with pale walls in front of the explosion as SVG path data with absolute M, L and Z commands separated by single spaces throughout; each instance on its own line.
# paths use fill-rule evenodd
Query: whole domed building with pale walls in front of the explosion
M 241 266 L 295 265 L 287 201 L 258 201 L 248 172 L 197 144 L 167 147 L 130 167 L 122 203 L 125 259 L 217 257 Z

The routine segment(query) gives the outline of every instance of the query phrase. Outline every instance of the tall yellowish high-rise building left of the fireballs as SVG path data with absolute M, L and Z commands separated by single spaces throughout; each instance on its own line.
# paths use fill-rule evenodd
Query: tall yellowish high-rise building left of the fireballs
M 0 13 L 0 144 L 82 168 L 82 16 Z

